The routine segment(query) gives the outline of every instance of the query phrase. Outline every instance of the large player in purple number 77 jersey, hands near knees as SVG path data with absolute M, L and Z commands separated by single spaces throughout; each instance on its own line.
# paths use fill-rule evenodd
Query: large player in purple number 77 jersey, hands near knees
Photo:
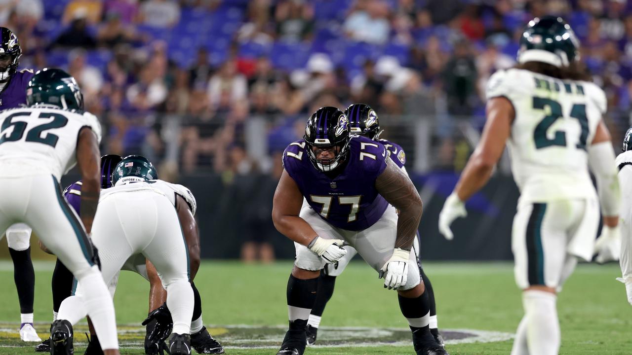
M 447 354 L 428 328 L 428 296 L 410 253 L 422 216 L 415 186 L 384 145 L 352 138 L 347 117 L 336 107 L 314 112 L 303 138 L 283 154 L 284 171 L 272 207 L 274 225 L 296 247 L 287 290 L 289 330 L 277 355 L 305 351 L 320 270 L 346 254 L 346 243 L 384 277 L 384 287 L 398 291 L 416 353 Z M 310 208 L 301 210 L 303 198 Z

